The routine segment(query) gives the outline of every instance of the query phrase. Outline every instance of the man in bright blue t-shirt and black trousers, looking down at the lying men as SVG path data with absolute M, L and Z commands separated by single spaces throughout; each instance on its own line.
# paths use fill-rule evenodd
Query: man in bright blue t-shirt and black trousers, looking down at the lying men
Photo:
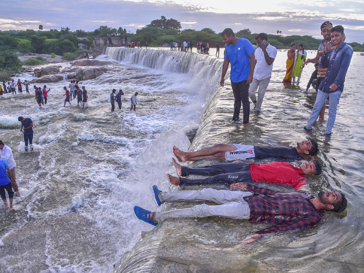
M 255 67 L 254 48 L 249 40 L 237 38 L 231 28 L 225 28 L 221 33 L 225 47 L 224 63 L 220 85 L 224 86 L 224 77 L 230 68 L 230 80 L 234 94 L 233 121 L 239 120 L 241 104 L 243 104 L 243 125 L 249 123 L 249 84 L 253 81 Z

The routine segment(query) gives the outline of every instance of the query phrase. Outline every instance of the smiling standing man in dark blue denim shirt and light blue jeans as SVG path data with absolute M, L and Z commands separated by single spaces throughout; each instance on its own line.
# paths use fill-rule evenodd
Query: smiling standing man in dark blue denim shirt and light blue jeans
M 321 58 L 322 66 L 327 68 L 326 75 L 318 87 L 316 102 L 313 105 L 310 119 L 304 127 L 305 130 L 312 129 L 321 107 L 326 99 L 329 98 L 329 118 L 325 135 L 330 135 L 334 126 L 337 104 L 344 89 L 345 75 L 353 55 L 353 48 L 344 42 L 344 28 L 341 25 L 337 25 L 331 28 L 330 32 L 331 41 L 335 44 L 336 49 L 331 52 L 328 58 L 331 43 L 326 44 L 324 55 Z

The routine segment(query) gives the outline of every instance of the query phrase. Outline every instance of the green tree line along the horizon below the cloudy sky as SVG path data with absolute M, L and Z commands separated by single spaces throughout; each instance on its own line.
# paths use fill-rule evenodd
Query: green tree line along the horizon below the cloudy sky
M 39 30 L 27 29 L 26 31 L 0 31 L 0 70 L 15 70 L 21 67 L 17 56 L 14 52 L 23 54 L 32 52 L 37 54 L 56 54 L 61 55 L 64 59 L 73 60 L 84 51 L 78 49 L 78 44 L 87 44 L 92 47 L 92 40 L 95 37 L 106 37 L 107 33 L 118 32 L 120 37 L 133 37 L 135 41 L 145 42 L 149 46 L 162 46 L 169 44 L 171 41 L 191 41 L 194 45 L 198 41 L 210 43 L 214 47 L 216 43 L 222 43 L 221 33 L 216 33 L 211 28 L 183 29 L 181 31 L 181 23 L 173 18 L 167 19 L 161 16 L 161 19 L 153 20 L 150 24 L 141 29 L 137 29 L 136 33 L 130 33 L 125 28 L 111 28 L 107 25 L 101 25 L 94 31 L 84 31 L 77 29 L 71 31 L 69 27 L 61 27 L 58 29 L 43 30 L 43 25 L 39 25 Z M 278 35 L 279 33 L 279 35 Z M 254 43 L 254 37 L 258 33 L 252 33 L 249 28 L 236 32 L 237 37 L 244 37 L 251 43 Z M 88 40 L 79 40 L 79 38 L 87 38 Z M 292 43 L 302 43 L 305 49 L 316 50 L 321 39 L 313 38 L 309 35 L 289 35 L 282 36 L 281 32 L 277 34 L 268 34 L 270 44 L 278 49 L 288 49 Z M 354 51 L 364 51 L 364 43 L 349 43 Z

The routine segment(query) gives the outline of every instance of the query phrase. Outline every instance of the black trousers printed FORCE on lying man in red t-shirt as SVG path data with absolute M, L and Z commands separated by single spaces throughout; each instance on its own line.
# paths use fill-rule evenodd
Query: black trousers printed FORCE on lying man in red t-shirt
M 223 163 L 213 166 L 188 168 L 182 166 L 181 175 L 212 175 L 207 178 L 179 178 L 179 186 L 184 185 L 200 185 L 200 184 L 233 184 L 242 181 L 252 181 L 249 163 L 235 162 Z

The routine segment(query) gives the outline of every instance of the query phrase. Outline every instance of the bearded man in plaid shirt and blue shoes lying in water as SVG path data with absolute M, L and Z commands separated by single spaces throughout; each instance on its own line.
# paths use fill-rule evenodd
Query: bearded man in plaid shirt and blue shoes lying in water
M 271 223 L 272 226 L 248 236 L 241 243 L 251 243 L 261 237 L 280 235 L 289 230 L 303 230 L 316 226 L 324 215 L 324 210 L 344 211 L 347 206 L 345 195 L 338 191 L 320 191 L 314 197 L 306 191 L 273 191 L 245 183 L 230 186 L 233 190 L 203 189 L 174 191 L 167 193 L 153 186 L 154 201 L 159 207 L 163 203 L 175 201 L 213 201 L 219 205 L 196 205 L 170 211 L 149 211 L 134 207 L 135 216 L 150 225 L 157 226 L 164 219 L 177 216 L 209 217 L 221 216 L 234 219 L 249 219 L 251 223 Z

